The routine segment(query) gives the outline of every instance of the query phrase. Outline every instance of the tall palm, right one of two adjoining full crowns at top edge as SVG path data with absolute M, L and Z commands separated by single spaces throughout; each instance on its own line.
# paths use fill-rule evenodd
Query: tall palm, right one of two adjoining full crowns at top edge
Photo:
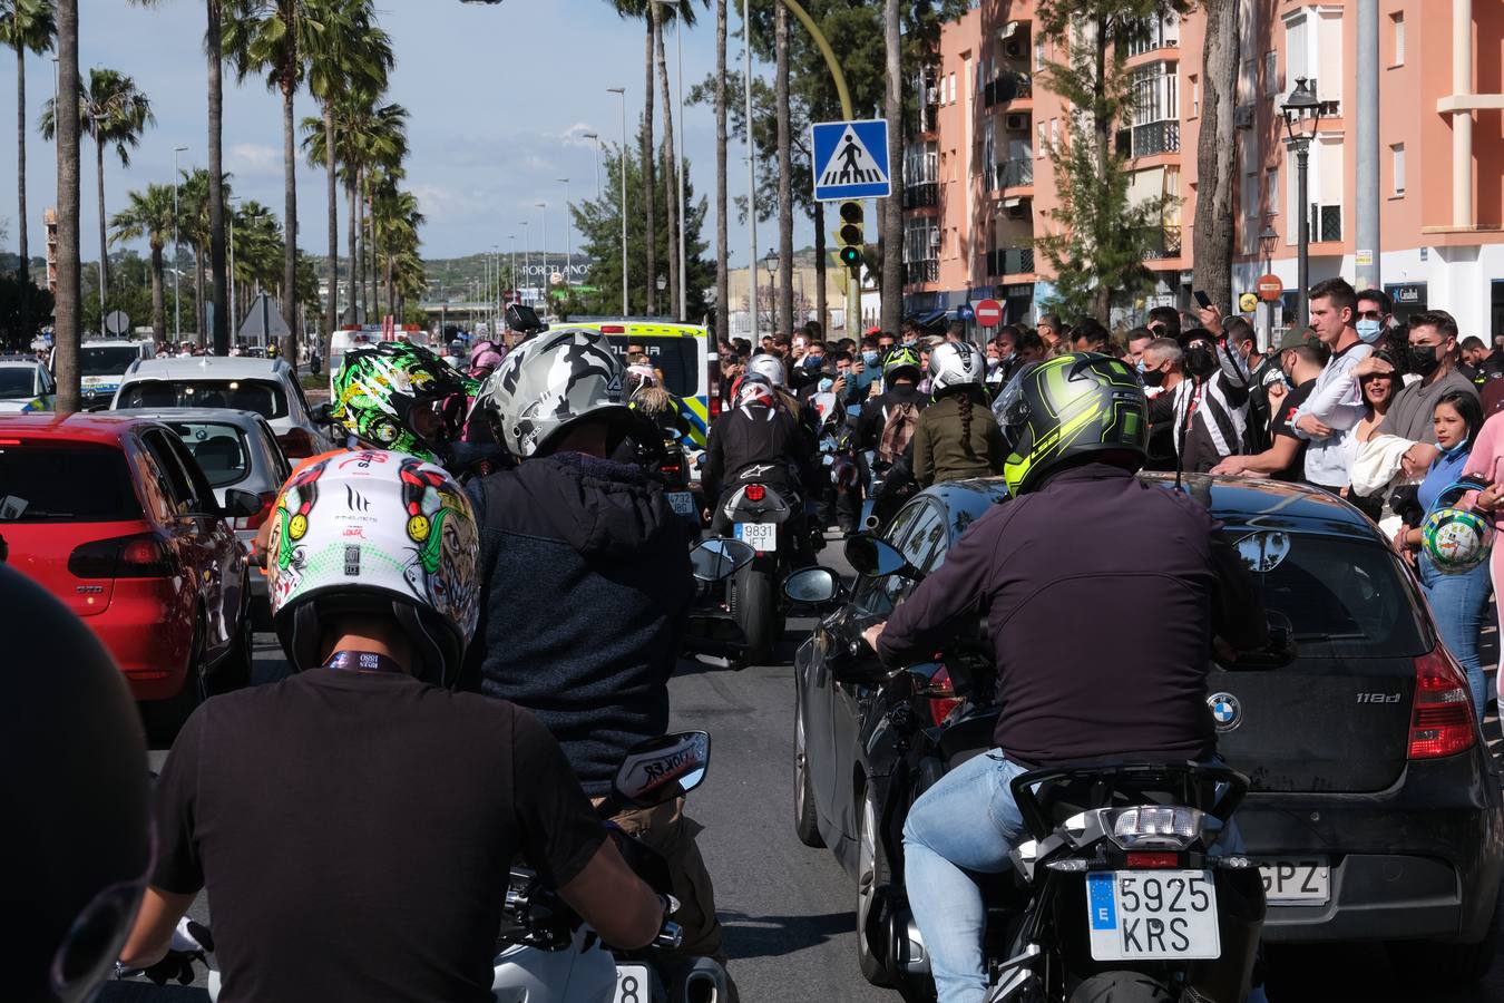
M 338 317 L 340 290 L 340 143 L 337 137 L 335 110 L 353 95 L 381 93 L 387 87 L 387 75 L 394 65 L 391 36 L 374 23 L 370 0 L 341 0 L 346 5 L 343 20 L 350 24 L 346 32 L 326 36 L 332 41 L 308 65 L 308 90 L 323 108 L 323 141 L 319 144 L 323 168 L 328 174 L 328 233 L 329 233 L 329 298 L 325 302 L 325 335 L 334 332 Z M 304 120 L 304 150 L 313 156 L 308 143 L 308 123 Z M 316 165 L 316 164 L 314 164 Z M 353 302 L 353 298 L 352 298 Z

